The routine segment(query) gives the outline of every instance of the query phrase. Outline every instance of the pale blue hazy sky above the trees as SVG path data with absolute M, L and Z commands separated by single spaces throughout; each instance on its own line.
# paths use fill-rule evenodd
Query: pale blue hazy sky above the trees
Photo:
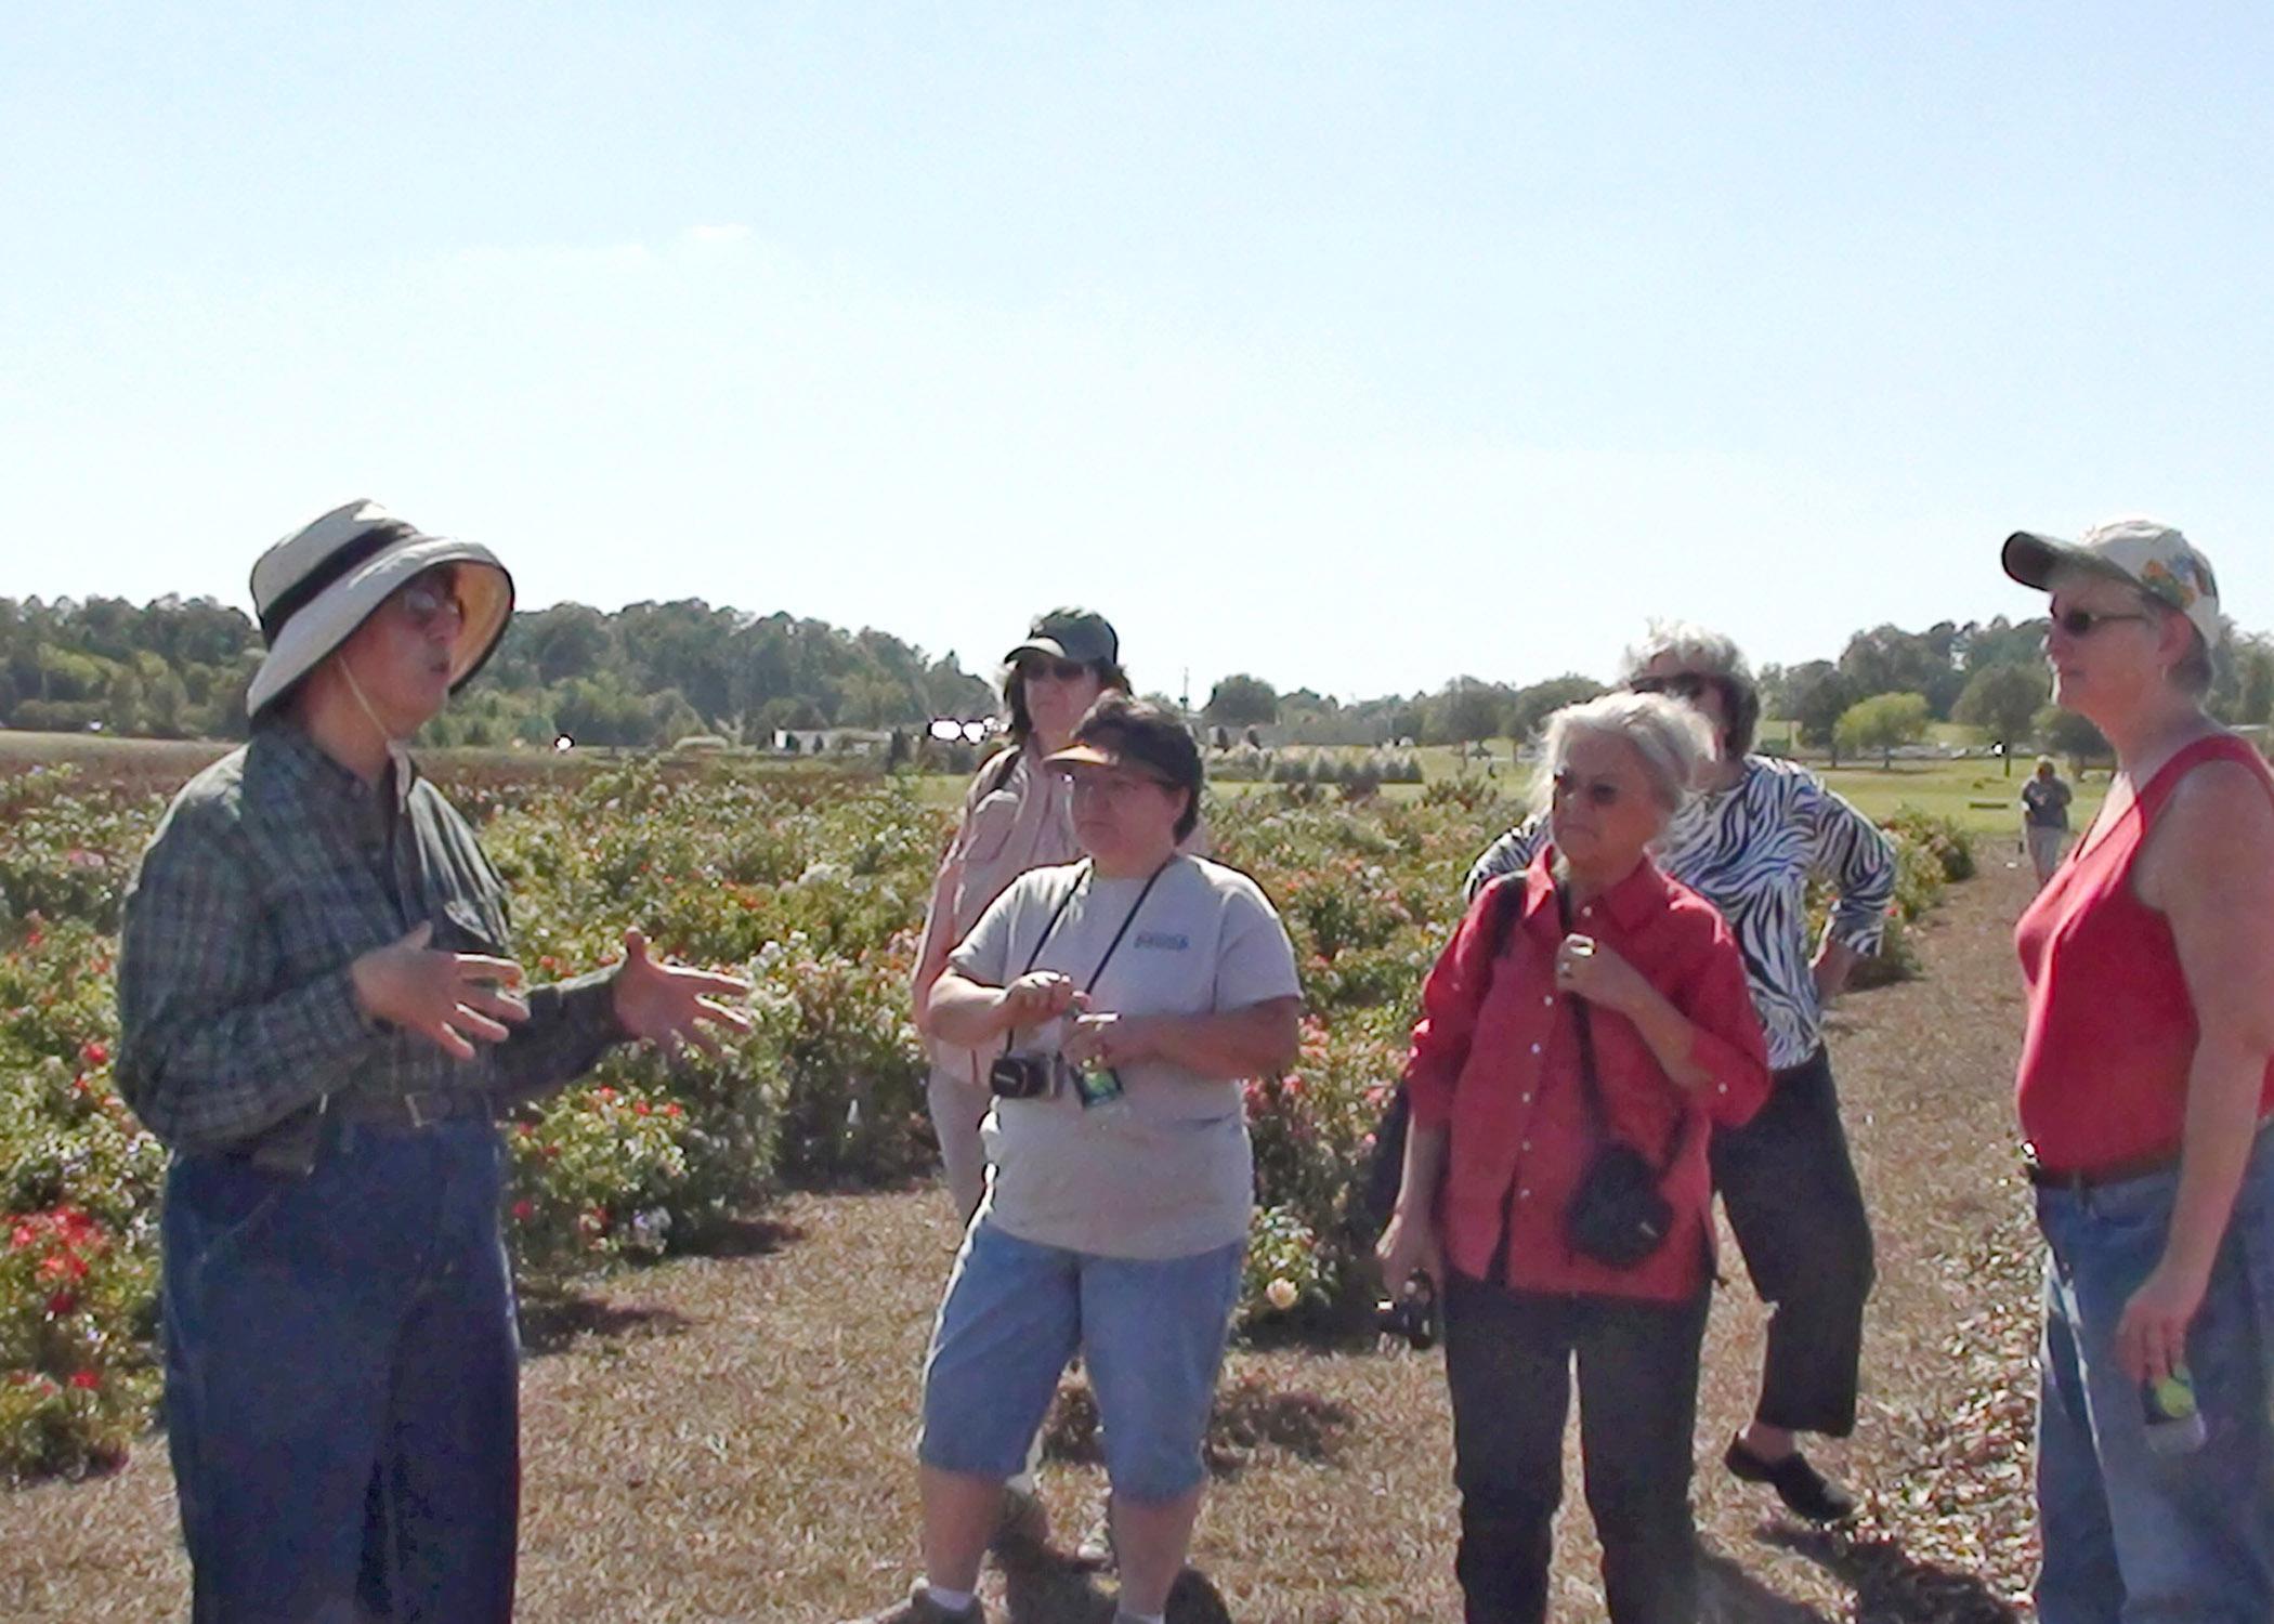
M 0 596 L 368 494 L 530 605 L 1351 696 L 2144 509 L 2269 625 L 2269 82 L 2258 5 L 11 7 Z

